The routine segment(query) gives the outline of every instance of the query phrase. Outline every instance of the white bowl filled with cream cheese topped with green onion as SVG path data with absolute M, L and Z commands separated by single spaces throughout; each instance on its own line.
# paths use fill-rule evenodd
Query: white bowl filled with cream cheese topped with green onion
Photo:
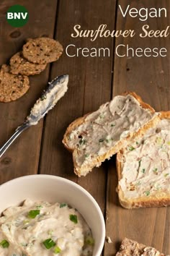
M 0 195 L 0 255 L 101 255 L 102 211 L 78 184 L 35 174 L 2 184 Z

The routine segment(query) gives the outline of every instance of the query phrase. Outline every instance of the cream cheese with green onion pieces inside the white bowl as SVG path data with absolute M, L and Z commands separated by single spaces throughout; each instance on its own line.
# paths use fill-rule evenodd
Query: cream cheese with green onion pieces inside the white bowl
M 25 200 L 0 218 L 1 256 L 92 256 L 93 246 L 86 221 L 66 203 Z

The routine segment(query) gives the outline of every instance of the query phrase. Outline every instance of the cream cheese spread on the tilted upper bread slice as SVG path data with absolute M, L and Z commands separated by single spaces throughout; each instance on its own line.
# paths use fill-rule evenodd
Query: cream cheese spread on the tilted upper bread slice
M 118 95 L 86 116 L 82 124 L 71 130 L 68 147 L 76 149 L 77 165 L 86 166 L 130 133 L 137 132 L 153 116 L 151 110 L 140 106 L 132 95 Z

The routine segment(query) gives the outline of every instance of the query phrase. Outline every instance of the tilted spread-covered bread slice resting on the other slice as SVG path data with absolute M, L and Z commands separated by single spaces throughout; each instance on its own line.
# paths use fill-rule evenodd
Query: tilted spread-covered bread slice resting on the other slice
M 76 119 L 63 137 L 63 144 L 73 152 L 74 172 L 86 176 L 158 121 L 154 109 L 135 93 L 117 95 L 97 111 Z

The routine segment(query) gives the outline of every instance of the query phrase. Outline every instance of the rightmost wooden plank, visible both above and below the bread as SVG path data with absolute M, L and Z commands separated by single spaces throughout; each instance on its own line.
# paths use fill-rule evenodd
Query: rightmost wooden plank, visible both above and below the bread
M 117 30 L 134 29 L 141 33 L 144 24 L 151 29 L 164 30 L 169 25 L 169 1 L 118 1 L 122 9 L 130 4 L 130 7 L 166 7 L 167 18 L 148 18 L 147 22 L 141 22 L 138 18 L 123 18 L 120 11 L 117 12 Z M 170 109 L 170 41 L 169 38 L 117 38 L 115 45 L 129 45 L 130 47 L 166 47 L 167 57 L 147 58 L 143 57 L 117 57 L 115 55 L 113 96 L 125 91 L 135 91 L 144 101 L 150 103 L 156 111 Z M 122 54 L 122 52 L 121 52 Z M 106 244 L 104 255 L 115 255 L 120 241 L 126 236 L 143 244 L 156 247 L 161 252 L 169 254 L 169 208 L 146 208 L 125 210 L 120 207 L 115 189 L 117 187 L 117 174 L 115 158 L 109 162 L 107 182 L 107 235 L 111 237 L 112 244 Z

